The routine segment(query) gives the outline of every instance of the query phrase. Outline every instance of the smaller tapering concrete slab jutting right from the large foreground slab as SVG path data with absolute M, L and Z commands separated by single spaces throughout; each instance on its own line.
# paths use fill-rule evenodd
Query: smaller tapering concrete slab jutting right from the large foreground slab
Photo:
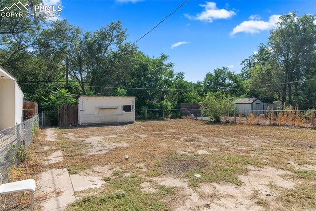
M 82 191 L 89 188 L 99 188 L 105 184 L 105 181 L 101 177 L 97 176 L 84 176 L 84 175 L 70 175 L 71 182 L 74 187 L 74 191 Z

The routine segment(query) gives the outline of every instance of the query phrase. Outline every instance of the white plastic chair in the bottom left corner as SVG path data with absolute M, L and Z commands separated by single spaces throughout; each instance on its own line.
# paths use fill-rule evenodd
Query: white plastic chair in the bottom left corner
M 34 191 L 35 191 L 35 181 L 34 179 L 26 179 L 18 182 L 10 182 L 6 184 L 2 184 L 3 177 L 0 173 L 0 197 L 3 194 L 8 193 L 18 193 L 24 191 L 31 192 L 31 211 L 33 211 L 34 205 Z

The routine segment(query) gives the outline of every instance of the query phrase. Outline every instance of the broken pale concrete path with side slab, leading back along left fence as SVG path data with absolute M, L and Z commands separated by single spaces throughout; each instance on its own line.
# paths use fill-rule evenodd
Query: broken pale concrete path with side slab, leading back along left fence
M 56 141 L 54 129 L 46 130 L 45 141 Z M 44 150 L 54 147 L 44 147 Z M 62 161 L 62 151 L 55 151 L 46 157 L 46 165 Z M 68 204 L 76 201 L 75 191 L 82 191 L 89 188 L 99 188 L 105 181 L 101 177 L 87 175 L 69 175 L 67 169 L 50 169 L 41 173 L 37 183 L 37 194 L 43 196 L 47 193 L 48 200 L 41 203 L 43 211 L 62 211 Z M 36 196 L 37 197 L 37 196 Z

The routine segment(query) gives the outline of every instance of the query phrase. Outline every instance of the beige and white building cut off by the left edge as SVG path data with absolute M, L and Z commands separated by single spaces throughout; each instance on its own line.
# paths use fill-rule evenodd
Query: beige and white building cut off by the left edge
M 0 66 L 0 130 L 23 121 L 23 97 L 16 78 Z

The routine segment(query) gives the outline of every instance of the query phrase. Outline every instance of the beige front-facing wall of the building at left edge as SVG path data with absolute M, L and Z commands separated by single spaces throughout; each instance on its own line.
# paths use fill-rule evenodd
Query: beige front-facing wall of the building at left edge
M 15 109 L 15 81 L 0 79 L 0 130 L 15 125 Z

